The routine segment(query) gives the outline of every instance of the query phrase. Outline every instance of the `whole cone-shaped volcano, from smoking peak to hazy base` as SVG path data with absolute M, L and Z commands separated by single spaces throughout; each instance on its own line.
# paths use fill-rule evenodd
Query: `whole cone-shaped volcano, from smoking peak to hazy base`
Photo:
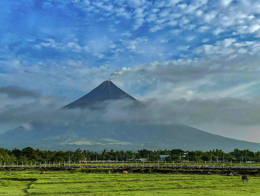
M 260 149 L 259 143 L 222 137 L 187 125 L 149 122 L 142 118 L 144 110 L 144 104 L 111 81 L 104 81 L 50 116 L 33 120 L 29 129 L 21 126 L 0 134 L 0 146 L 92 151 Z M 147 112 L 144 114 L 147 116 Z

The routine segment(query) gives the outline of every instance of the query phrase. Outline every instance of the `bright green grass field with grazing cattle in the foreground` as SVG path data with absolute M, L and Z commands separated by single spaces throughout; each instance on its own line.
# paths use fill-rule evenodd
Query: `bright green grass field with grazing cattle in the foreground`
M 79 170 L 80 171 L 80 170 Z M 198 174 L 105 174 L 1 171 L 0 195 L 259 195 L 260 177 Z

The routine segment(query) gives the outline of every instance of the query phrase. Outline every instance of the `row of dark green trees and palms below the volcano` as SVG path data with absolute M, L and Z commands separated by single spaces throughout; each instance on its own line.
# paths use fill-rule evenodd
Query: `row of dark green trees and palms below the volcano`
M 40 150 L 33 149 L 31 147 L 23 148 L 22 150 L 14 148 L 8 150 L 5 148 L 0 148 L 0 162 L 72 162 L 79 163 L 79 161 L 96 161 L 96 160 L 118 160 L 118 161 L 134 161 L 135 159 L 145 158 L 149 161 L 157 161 L 160 157 L 159 155 L 169 155 L 165 160 L 170 162 L 180 162 L 181 160 L 189 161 L 255 161 L 259 162 L 260 152 L 252 152 L 248 149 L 239 150 L 238 148 L 234 149 L 232 152 L 225 153 L 222 150 L 213 149 L 207 152 L 201 150 L 196 151 L 184 151 L 181 149 L 172 149 L 172 150 L 138 150 L 137 152 L 128 151 L 114 151 L 113 149 L 107 151 L 104 149 L 101 153 L 92 152 L 90 150 L 81 150 L 78 148 L 75 151 L 50 151 L 50 150 Z

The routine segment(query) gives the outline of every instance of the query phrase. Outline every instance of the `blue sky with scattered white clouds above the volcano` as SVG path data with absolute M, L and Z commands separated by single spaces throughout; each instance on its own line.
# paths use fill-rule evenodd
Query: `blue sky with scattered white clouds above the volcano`
M 259 1 L 3 0 L 0 10 L 0 116 L 14 119 L 0 132 L 30 122 L 16 109 L 54 110 L 110 78 L 172 110 L 185 100 L 180 123 L 260 142 Z

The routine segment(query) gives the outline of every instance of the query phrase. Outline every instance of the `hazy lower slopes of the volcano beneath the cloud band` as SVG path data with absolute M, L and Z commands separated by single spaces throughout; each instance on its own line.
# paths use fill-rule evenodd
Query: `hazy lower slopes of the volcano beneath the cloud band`
M 214 135 L 186 125 L 144 125 L 125 123 L 100 123 L 55 127 L 34 124 L 27 131 L 20 127 L 0 135 L 1 147 L 49 150 L 89 149 L 102 151 L 140 149 L 212 150 L 232 151 L 235 148 L 257 151 L 259 143 L 235 140 Z

